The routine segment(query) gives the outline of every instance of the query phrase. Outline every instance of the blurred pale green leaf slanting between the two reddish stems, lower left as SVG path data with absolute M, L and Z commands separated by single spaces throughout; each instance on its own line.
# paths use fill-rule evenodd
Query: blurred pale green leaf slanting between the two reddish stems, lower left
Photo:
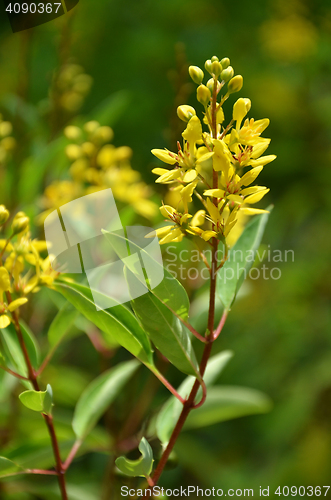
M 91 432 L 138 366 L 136 360 L 120 363 L 88 385 L 76 405 L 72 421 L 78 439 L 84 439 Z

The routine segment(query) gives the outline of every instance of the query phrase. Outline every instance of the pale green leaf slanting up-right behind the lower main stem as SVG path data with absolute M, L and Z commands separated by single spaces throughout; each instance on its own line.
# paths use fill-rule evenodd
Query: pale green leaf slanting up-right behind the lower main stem
M 208 392 L 209 387 L 216 381 L 217 377 L 221 374 L 232 356 L 233 353 L 231 351 L 222 351 L 210 358 L 203 377 Z M 187 377 L 180 385 L 178 392 L 183 398 L 187 398 L 189 396 L 194 382 L 194 377 Z M 201 399 L 201 396 L 202 391 L 200 388 L 197 393 L 196 402 Z M 175 398 L 175 396 L 171 396 L 161 408 L 156 419 L 156 433 L 162 443 L 168 443 L 182 409 L 182 404 L 177 398 Z

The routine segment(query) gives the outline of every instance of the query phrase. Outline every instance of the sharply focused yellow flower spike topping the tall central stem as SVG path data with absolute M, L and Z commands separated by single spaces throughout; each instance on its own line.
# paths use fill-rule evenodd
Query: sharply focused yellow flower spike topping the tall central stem
M 156 182 L 169 184 L 180 200 L 176 207 L 160 208 L 162 215 L 172 222 L 157 229 L 161 244 L 181 241 L 187 235 L 205 241 L 217 238 L 232 244 L 231 231 L 238 222 L 242 229 L 247 215 L 265 212 L 251 205 L 269 191 L 252 184 L 264 165 L 276 158 L 262 156 L 270 143 L 270 139 L 261 137 L 269 120 L 247 118 L 251 101 L 240 98 L 233 106 L 231 121 L 225 126 L 223 104 L 231 94 L 241 90 L 243 78 L 234 76 L 228 58 L 219 61 L 214 56 L 206 61 L 205 68 L 211 75 L 206 85 L 202 83 L 201 68 L 189 68 L 192 80 L 198 84 L 197 100 L 204 107 L 203 123 L 192 106 L 179 106 L 178 117 L 187 122 L 182 133 L 183 145 L 177 143 L 177 152 L 152 150 L 158 159 L 172 166 L 170 170 L 155 168 L 153 173 L 159 176 Z M 222 95 L 226 84 L 227 91 Z M 189 213 L 193 194 L 203 205 L 194 216 Z

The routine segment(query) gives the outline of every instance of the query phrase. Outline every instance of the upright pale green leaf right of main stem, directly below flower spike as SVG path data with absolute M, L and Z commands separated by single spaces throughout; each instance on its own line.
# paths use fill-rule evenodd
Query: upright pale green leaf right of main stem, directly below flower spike
M 272 207 L 268 207 L 272 210 Z M 269 214 L 256 215 L 245 227 L 229 257 L 217 274 L 217 295 L 224 308 L 230 309 L 247 274 L 254 264 Z

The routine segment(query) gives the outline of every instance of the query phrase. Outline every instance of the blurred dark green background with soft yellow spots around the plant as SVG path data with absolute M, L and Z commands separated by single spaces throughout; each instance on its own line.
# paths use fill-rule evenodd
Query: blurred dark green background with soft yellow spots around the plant
M 102 115 L 111 101 L 102 124 L 113 127 L 116 146 L 132 148 L 133 168 L 151 184 L 155 161 L 150 150 L 172 149 L 182 131 L 177 105 L 196 105 L 187 65 L 203 67 L 215 54 L 230 57 L 236 73 L 244 76 L 240 96 L 251 99 L 250 116 L 270 118 L 264 135 L 272 138 L 269 154 L 277 155 L 261 174 L 262 183 L 271 188 L 268 201 L 275 205 L 264 244 L 272 250 L 293 249 L 294 262 L 277 263 L 279 280 L 246 285 L 216 351 L 235 352 L 220 383 L 260 389 L 274 407 L 266 415 L 185 432 L 176 446 L 178 465 L 164 473 L 160 484 L 254 488 L 256 495 L 259 486 L 269 486 L 271 497 L 278 486 L 330 484 L 329 1 L 80 0 L 67 16 L 16 34 L 2 15 L 0 30 L 0 111 L 13 123 L 18 145 L 1 170 L 0 202 L 32 216 L 41 210 L 38 200 L 45 186 L 66 175 L 69 163 L 56 141 L 77 116 L 93 118 L 96 109 Z M 49 89 L 68 61 L 80 64 L 93 85 L 74 109 L 69 104 L 55 113 Z M 235 98 L 225 106 L 228 113 Z M 47 144 L 53 148 L 50 158 L 43 153 Z M 196 287 L 189 285 L 194 300 Z M 41 308 L 43 299 L 38 300 Z M 51 309 L 48 314 L 49 321 Z M 49 372 L 54 383 L 57 378 L 62 384 L 63 415 L 72 412 L 100 363 L 111 363 L 100 362 L 86 337 L 72 340 L 68 349 Z M 175 371 L 169 374 L 174 384 L 180 383 Z M 133 389 L 139 395 L 138 384 Z M 165 395 L 162 389 L 157 392 L 155 408 Z M 122 401 L 112 417 L 115 427 L 125 408 Z M 6 411 L 1 412 L 3 423 Z M 27 441 L 31 429 L 37 433 L 36 424 L 19 422 Z M 107 455 L 87 454 L 69 472 L 73 491 L 85 484 L 88 500 L 100 498 L 105 473 L 110 480 Z M 49 481 L 24 481 L 24 488 L 16 481 L 7 493 L 0 490 L 0 497 L 58 498 L 55 483 L 47 490 Z M 82 491 L 79 495 L 85 498 Z

